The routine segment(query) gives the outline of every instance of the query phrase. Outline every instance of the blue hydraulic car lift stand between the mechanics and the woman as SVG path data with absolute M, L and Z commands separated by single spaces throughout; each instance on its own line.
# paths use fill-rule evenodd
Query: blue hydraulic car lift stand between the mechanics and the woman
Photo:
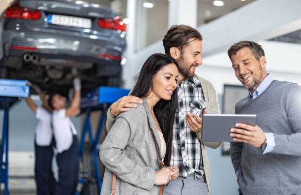
M 81 99 L 81 109 L 83 113 L 86 113 L 86 120 L 85 120 L 85 125 L 83 127 L 81 140 L 80 140 L 79 158 L 81 162 L 84 162 L 85 159 L 87 160 L 88 158 L 88 162 L 86 163 L 87 166 L 86 170 L 82 170 L 80 172 L 80 178 L 79 178 L 79 184 L 80 184 L 79 186 L 82 187 L 85 186 L 85 187 L 78 189 L 76 195 L 78 194 L 95 195 L 96 193 L 93 192 L 93 190 L 89 186 L 89 182 L 91 181 L 96 182 L 97 193 L 98 195 L 100 194 L 101 179 L 100 179 L 99 167 L 98 167 L 99 148 L 97 146 L 103 129 L 103 124 L 106 120 L 107 109 L 112 103 L 117 101 L 120 97 L 127 96 L 128 94 L 129 94 L 129 90 L 116 88 L 116 87 L 104 87 L 104 86 L 98 87 L 89 93 L 83 94 Z M 100 121 L 98 124 L 95 137 L 93 137 L 92 128 L 90 124 L 90 114 L 94 110 L 101 110 Z M 85 143 L 85 137 L 87 131 L 89 132 L 89 137 L 90 137 L 89 143 L 87 142 Z M 87 189 L 87 187 L 89 193 L 84 192 L 84 190 Z

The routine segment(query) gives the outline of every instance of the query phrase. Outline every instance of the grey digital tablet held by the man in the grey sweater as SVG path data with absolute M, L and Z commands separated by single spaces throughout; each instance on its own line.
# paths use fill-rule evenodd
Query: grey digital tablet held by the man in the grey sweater
M 204 114 L 202 142 L 234 142 L 229 133 L 236 123 L 255 126 L 256 114 Z

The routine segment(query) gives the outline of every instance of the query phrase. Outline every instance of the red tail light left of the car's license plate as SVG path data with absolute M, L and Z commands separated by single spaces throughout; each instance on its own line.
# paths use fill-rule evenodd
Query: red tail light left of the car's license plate
M 27 7 L 20 7 L 20 4 L 16 3 L 5 10 L 4 17 L 37 20 L 41 17 L 41 12 Z

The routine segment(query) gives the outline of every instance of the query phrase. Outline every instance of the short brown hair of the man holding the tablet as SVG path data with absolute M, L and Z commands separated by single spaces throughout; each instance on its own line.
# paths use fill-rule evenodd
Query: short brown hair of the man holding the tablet
M 265 51 L 262 49 L 261 45 L 254 41 L 247 41 L 243 40 L 237 43 L 234 43 L 228 50 L 228 56 L 231 60 L 232 55 L 236 55 L 242 48 L 247 47 L 252 51 L 253 56 L 256 58 L 257 61 L 262 56 L 265 56 Z

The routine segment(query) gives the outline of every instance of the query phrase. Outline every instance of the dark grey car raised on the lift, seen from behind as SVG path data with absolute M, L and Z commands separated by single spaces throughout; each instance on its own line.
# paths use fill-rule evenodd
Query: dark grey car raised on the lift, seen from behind
M 83 1 L 16 0 L 0 25 L 2 78 L 27 79 L 63 95 L 75 76 L 86 91 L 121 84 L 125 24 L 111 9 Z

